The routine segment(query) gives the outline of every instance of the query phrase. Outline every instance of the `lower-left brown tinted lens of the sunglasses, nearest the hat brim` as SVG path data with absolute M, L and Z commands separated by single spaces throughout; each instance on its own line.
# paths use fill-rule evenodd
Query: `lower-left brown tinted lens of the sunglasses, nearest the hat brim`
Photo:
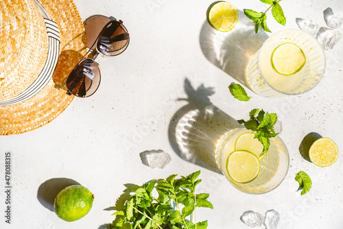
M 67 78 L 68 91 L 78 97 L 93 95 L 100 84 L 100 70 L 97 63 L 86 58 L 75 66 Z

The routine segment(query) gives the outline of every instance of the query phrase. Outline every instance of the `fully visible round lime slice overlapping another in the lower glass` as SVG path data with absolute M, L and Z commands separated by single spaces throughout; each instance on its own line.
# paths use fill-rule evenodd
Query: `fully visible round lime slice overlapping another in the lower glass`
M 228 156 L 226 171 L 238 183 L 248 183 L 259 175 L 259 158 L 246 150 L 237 150 Z

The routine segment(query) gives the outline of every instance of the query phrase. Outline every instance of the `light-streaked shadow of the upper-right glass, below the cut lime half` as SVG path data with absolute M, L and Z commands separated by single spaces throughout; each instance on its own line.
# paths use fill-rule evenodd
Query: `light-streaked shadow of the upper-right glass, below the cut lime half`
M 238 10 L 239 20 L 230 32 L 219 32 L 207 21 L 200 31 L 200 47 L 209 62 L 248 87 L 245 80 L 246 64 L 267 40 L 268 35 Z

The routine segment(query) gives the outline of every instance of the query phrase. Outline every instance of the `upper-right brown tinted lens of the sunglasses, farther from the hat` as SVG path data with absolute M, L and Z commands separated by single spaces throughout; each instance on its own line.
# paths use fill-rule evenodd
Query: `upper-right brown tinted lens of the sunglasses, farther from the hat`
M 110 21 L 97 40 L 97 50 L 106 56 L 116 56 L 128 47 L 128 29 L 120 21 Z

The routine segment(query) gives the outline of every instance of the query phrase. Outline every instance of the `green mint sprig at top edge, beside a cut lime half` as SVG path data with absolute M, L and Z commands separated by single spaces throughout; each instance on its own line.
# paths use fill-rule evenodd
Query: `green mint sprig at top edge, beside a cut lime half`
M 280 23 L 281 25 L 285 25 L 286 24 L 286 18 L 285 18 L 285 14 L 283 13 L 283 10 L 281 8 L 281 5 L 279 4 L 280 1 L 274 1 L 274 0 L 260 0 L 261 2 L 270 5 L 270 7 L 265 10 L 265 12 L 257 12 L 254 10 L 248 10 L 248 9 L 244 9 L 244 14 L 246 14 L 246 16 L 248 16 L 249 19 L 251 19 L 252 21 L 254 21 L 255 23 L 255 33 L 257 34 L 257 32 L 259 32 L 259 27 L 262 27 L 262 29 L 265 32 L 272 32 L 270 31 L 270 29 L 267 26 L 267 12 L 272 9 L 272 15 L 275 19 L 275 21 L 277 21 L 278 23 Z

